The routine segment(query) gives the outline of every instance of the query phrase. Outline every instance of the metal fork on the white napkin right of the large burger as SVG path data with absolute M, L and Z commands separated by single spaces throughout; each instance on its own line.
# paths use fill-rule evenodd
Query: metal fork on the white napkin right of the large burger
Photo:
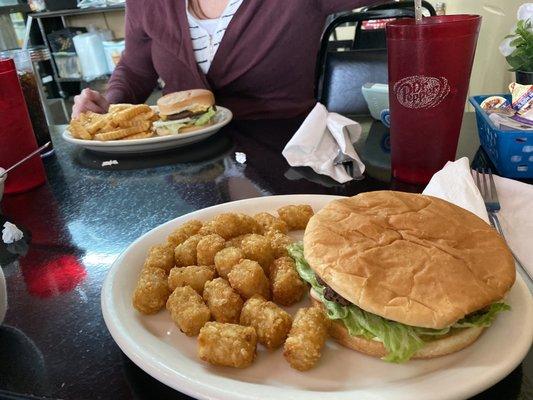
M 472 173 L 474 176 L 474 173 Z M 498 192 L 496 191 L 496 185 L 494 184 L 494 178 L 492 177 L 492 171 L 490 168 L 476 168 L 476 174 L 474 176 L 476 180 L 477 188 L 483 197 L 485 202 L 485 207 L 487 208 L 487 213 L 489 215 L 489 220 L 491 225 L 498 231 L 503 240 L 507 243 L 505 236 L 503 234 L 502 226 L 500 225 L 500 220 L 498 219 L 498 211 L 500 211 L 500 201 L 498 200 Z M 509 244 L 509 243 L 507 243 Z M 524 267 L 520 262 L 520 259 L 516 256 L 511 248 L 511 254 L 513 255 L 518 266 L 526 273 L 526 275 L 533 281 L 533 277 L 529 271 Z

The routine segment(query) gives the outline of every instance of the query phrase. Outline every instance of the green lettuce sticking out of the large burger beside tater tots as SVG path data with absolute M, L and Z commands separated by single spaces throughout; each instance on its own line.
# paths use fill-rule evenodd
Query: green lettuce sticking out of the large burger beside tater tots
M 446 335 L 452 328 L 490 326 L 499 312 L 510 309 L 507 304 L 495 303 L 490 306 L 488 311 L 471 314 L 458 321 L 452 327 L 443 329 L 405 325 L 364 311 L 354 304 L 342 306 L 334 301 L 327 300 L 324 298 L 324 287 L 317 282 L 314 271 L 304 258 L 303 245 L 294 243 L 288 247 L 288 251 L 294 259 L 296 269 L 302 279 L 308 282 L 320 297 L 328 317 L 341 320 L 348 333 L 352 336 L 362 336 L 368 340 L 382 342 L 388 353 L 383 358 L 385 361 L 394 363 L 408 361 L 424 346 L 425 341 Z

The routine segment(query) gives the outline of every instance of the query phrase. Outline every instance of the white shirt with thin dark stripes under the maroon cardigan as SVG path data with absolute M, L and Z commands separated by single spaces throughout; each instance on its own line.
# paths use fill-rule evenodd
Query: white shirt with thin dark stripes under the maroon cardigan
M 229 0 L 219 18 L 202 20 L 189 12 L 187 1 L 187 19 L 194 57 L 204 74 L 209 72 L 211 62 L 217 53 L 224 33 L 242 2 L 243 0 Z

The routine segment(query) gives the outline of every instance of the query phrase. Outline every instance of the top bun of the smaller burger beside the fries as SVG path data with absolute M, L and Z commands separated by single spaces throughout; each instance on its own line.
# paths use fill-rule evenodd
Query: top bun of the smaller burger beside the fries
M 205 108 L 206 110 L 215 104 L 213 92 L 207 89 L 192 89 L 182 92 L 169 93 L 159 100 L 160 115 L 172 115 L 190 108 Z

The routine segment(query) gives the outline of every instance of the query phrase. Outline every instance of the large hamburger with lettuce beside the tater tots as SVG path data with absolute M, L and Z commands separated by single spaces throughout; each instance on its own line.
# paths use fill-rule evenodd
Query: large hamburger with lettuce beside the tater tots
M 511 252 L 476 215 L 393 191 L 335 200 L 289 247 L 330 335 L 353 350 L 405 362 L 457 352 L 502 311 Z

